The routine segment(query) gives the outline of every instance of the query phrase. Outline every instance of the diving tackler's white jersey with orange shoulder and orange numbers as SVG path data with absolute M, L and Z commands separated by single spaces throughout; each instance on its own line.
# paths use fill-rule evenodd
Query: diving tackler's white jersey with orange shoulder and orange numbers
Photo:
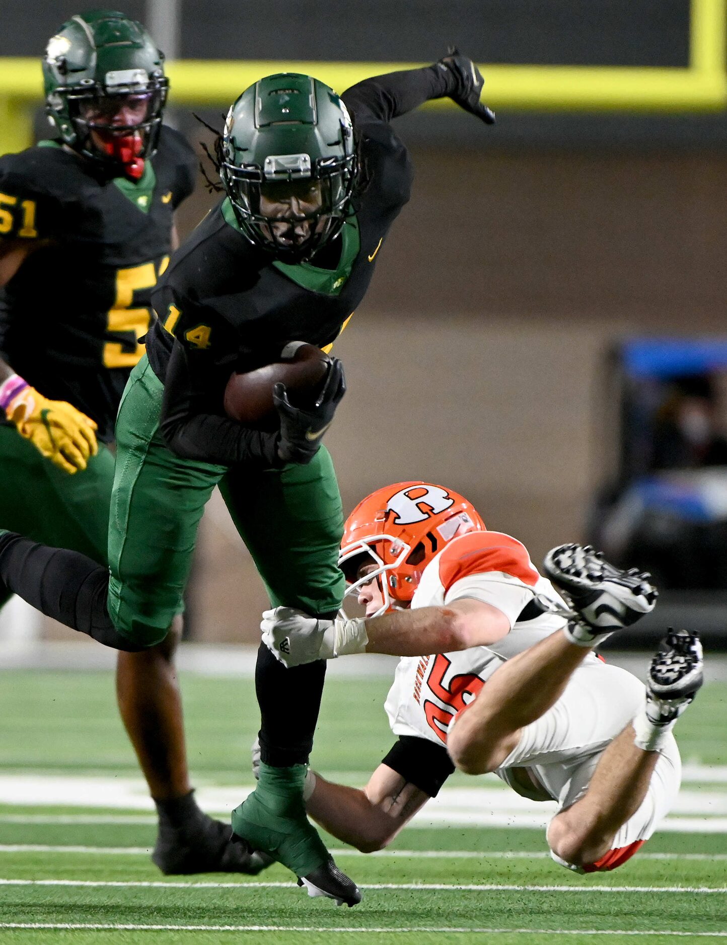
M 567 607 L 550 581 L 538 574 L 525 545 L 510 535 L 467 532 L 446 544 L 424 569 L 412 608 L 474 597 L 501 610 L 511 631 L 492 646 L 402 658 L 386 701 L 394 734 L 446 743 L 449 723 L 498 666 L 564 626 L 565 619 L 557 614 L 535 608 L 528 614 L 536 594 Z M 533 611 L 531 619 L 522 619 Z M 586 661 L 597 658 L 590 655 Z

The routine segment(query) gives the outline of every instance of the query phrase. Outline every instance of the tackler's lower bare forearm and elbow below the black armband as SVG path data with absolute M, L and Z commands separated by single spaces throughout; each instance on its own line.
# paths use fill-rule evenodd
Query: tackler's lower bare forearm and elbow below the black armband
M 328 833 L 356 850 L 372 853 L 388 847 L 428 799 L 428 794 L 388 765 L 379 765 L 362 790 L 316 774 L 305 810 Z

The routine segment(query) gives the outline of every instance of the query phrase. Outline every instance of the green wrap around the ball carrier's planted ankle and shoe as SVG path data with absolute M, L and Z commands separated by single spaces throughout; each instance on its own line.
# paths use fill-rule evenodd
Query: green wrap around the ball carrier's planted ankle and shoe
M 261 762 L 257 787 L 233 811 L 234 833 L 297 876 L 307 876 L 330 856 L 305 816 L 303 784 L 307 770 L 307 765 L 272 767 Z

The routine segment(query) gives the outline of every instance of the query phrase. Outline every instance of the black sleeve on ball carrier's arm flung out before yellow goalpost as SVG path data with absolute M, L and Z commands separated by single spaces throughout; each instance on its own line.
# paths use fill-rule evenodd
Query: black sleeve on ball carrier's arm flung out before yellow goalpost
M 341 97 L 358 125 L 371 120 L 388 124 L 392 118 L 412 112 L 430 98 L 443 98 L 454 91 L 455 81 L 449 69 L 435 63 L 424 69 L 365 78 Z

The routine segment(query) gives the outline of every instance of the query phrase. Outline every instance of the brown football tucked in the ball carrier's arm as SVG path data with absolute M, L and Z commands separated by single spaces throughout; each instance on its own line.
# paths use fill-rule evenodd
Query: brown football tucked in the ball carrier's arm
M 330 363 L 328 355 L 315 345 L 289 341 L 279 361 L 230 377 L 225 388 L 225 413 L 245 426 L 274 428 L 278 418 L 272 403 L 274 385 L 278 381 L 286 385 L 291 404 L 312 404 Z

